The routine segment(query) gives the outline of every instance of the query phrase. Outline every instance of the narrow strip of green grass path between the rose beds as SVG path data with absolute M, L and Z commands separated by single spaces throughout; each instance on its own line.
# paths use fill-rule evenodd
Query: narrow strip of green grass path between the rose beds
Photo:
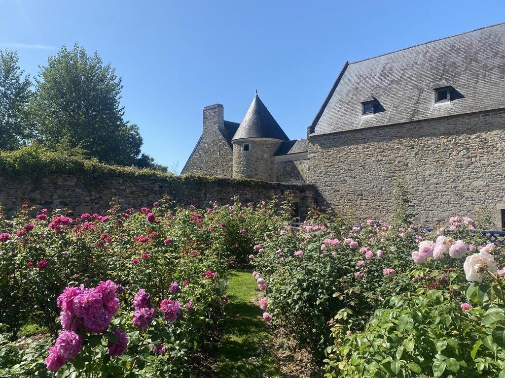
M 256 280 L 250 272 L 230 271 L 218 377 L 280 376 L 263 311 L 252 302 L 256 298 L 256 288 Z

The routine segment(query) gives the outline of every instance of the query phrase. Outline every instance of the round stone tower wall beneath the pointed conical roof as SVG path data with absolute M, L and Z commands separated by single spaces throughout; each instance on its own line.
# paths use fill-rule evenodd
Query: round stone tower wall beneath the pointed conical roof
M 276 181 L 274 153 L 280 143 L 265 138 L 233 142 L 233 178 Z M 244 144 L 249 144 L 249 151 L 242 151 Z

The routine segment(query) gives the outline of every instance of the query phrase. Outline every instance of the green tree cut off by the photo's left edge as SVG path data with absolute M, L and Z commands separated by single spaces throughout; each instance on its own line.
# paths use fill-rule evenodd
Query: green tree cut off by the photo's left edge
M 18 66 L 15 51 L 0 50 L 0 150 L 16 150 L 26 140 L 29 76 Z

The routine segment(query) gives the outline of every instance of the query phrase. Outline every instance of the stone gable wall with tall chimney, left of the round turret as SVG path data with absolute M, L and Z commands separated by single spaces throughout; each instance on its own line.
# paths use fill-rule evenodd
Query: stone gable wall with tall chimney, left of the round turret
M 203 133 L 182 169 L 182 174 L 201 173 L 205 176 L 231 178 L 232 150 L 219 131 L 224 128 L 223 112 L 221 104 L 204 108 Z

